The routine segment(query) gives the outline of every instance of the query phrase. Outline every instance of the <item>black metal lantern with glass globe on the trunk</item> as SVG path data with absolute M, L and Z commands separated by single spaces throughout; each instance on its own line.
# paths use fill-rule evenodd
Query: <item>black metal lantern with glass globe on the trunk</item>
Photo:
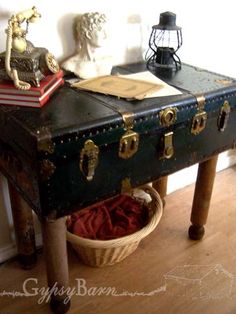
M 159 24 L 152 26 L 146 54 L 147 67 L 157 73 L 172 73 L 181 69 L 181 61 L 176 52 L 182 43 L 182 31 L 176 25 L 176 14 L 161 13 Z

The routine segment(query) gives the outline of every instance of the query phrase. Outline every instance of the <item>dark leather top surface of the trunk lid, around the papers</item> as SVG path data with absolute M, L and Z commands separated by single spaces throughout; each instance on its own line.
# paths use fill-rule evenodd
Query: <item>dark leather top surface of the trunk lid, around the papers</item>
M 141 67 L 142 65 L 142 67 Z M 126 71 L 143 69 L 144 65 L 117 67 L 117 71 L 125 68 Z M 191 94 L 201 93 L 207 97 L 232 92 L 235 89 L 235 81 L 232 85 L 224 86 L 217 83 L 224 77 L 210 73 L 205 70 L 183 65 L 181 71 L 177 72 L 171 79 L 166 80 L 171 85 L 183 90 L 183 95 L 151 98 L 143 101 L 125 101 L 113 96 L 100 95 L 96 93 L 76 91 L 68 86 L 61 87 L 43 108 L 28 108 L 18 106 L 0 106 L 0 112 L 7 112 L 9 119 L 14 120 L 15 125 L 29 131 L 37 136 L 37 130 L 42 126 L 47 127 L 52 135 L 63 135 L 67 130 L 77 131 L 107 123 L 121 121 L 117 112 L 109 108 L 109 103 L 117 109 L 131 111 L 138 116 L 145 115 L 148 111 L 161 109 L 169 105 L 184 105 L 196 102 Z

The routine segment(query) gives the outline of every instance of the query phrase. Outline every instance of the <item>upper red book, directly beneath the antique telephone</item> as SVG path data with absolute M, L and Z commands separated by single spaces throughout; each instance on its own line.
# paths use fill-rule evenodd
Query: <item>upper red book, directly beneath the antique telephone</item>
M 19 90 L 14 86 L 13 82 L 2 81 L 0 82 L 0 94 L 42 96 L 59 78 L 62 77 L 63 71 L 60 70 L 58 73 L 48 75 L 42 79 L 39 87 L 32 86 L 28 90 Z

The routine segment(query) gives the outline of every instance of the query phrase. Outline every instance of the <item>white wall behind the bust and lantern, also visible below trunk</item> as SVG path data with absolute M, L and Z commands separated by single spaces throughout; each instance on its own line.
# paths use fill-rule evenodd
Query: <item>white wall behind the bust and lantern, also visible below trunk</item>
M 0 51 L 5 50 L 4 30 L 10 15 L 33 5 L 41 12 L 42 19 L 30 25 L 28 39 L 35 46 L 47 47 L 59 61 L 74 51 L 71 27 L 77 13 L 100 11 L 107 14 L 111 22 L 113 57 L 115 64 L 119 64 L 140 59 L 147 49 L 151 26 L 158 23 L 161 12 L 169 10 L 177 14 L 177 24 L 183 29 L 184 43 L 179 51 L 182 61 L 236 77 L 233 0 L 0 0 Z M 235 162 L 235 153 L 231 157 L 222 155 L 219 169 L 232 162 Z M 185 170 L 184 175 L 171 176 L 169 192 L 193 182 L 195 172 L 196 167 L 193 167 Z M 6 186 L 5 181 L 3 186 Z M 0 195 L 0 261 L 15 252 L 6 206 L 9 202 L 5 193 L 4 198 Z

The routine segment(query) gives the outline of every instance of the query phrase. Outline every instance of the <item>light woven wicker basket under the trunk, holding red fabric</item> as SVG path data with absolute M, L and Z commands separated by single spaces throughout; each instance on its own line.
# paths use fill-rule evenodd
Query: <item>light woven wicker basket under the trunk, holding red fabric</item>
M 67 240 L 85 264 L 102 267 L 118 263 L 133 253 L 139 242 L 155 229 L 163 211 L 161 198 L 149 185 L 134 190 L 132 196 L 136 197 L 137 193 L 140 195 L 140 190 L 151 197 L 148 203 L 144 200 L 149 209 L 149 222 L 141 230 L 128 236 L 105 241 L 82 238 L 67 231 Z

